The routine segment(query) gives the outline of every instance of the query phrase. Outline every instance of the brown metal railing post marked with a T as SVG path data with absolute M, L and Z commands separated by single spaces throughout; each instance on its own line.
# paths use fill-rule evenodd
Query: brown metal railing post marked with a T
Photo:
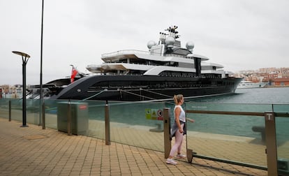
M 265 112 L 265 134 L 268 175 L 278 175 L 274 112 Z

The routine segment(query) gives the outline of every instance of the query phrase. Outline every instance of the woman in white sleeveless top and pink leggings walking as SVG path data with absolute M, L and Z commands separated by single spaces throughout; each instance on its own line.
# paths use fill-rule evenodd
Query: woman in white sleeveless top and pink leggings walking
M 172 146 L 172 149 L 170 150 L 170 156 L 168 157 L 166 163 L 176 165 L 177 162 L 172 159 L 175 153 L 177 152 L 177 158 L 181 159 L 186 157 L 186 155 L 181 154 L 181 144 L 184 140 L 185 135 L 185 125 L 186 125 L 186 114 L 181 108 L 181 105 L 184 103 L 184 96 L 179 94 L 174 96 L 175 101 L 175 108 L 174 108 L 174 117 L 175 117 L 175 123 L 172 126 L 172 137 L 175 136 L 175 144 Z M 190 122 L 195 122 L 193 119 L 188 119 Z

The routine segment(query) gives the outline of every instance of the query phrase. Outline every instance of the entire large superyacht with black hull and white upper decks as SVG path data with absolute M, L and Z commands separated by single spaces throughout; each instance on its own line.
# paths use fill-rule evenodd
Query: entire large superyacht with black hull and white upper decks
M 50 95 L 51 99 L 100 101 L 157 101 L 233 94 L 242 78 L 229 76 L 220 64 L 193 53 L 193 43 L 181 47 L 177 27 L 149 41 L 148 52 L 122 50 L 102 54 L 101 65 L 89 65 L 84 76 Z

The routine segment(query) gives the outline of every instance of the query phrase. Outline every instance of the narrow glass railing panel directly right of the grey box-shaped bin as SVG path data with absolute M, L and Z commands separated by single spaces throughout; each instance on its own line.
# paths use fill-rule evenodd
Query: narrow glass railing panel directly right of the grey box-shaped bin
M 89 104 L 87 135 L 105 140 L 105 101 L 86 101 Z

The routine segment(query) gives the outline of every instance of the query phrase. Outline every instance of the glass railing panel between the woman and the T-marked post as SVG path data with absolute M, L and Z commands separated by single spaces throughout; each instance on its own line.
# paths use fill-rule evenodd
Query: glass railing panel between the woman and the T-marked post
M 230 107 L 230 108 L 229 108 Z M 255 110 L 251 107 L 254 107 Z M 186 110 L 262 112 L 269 105 L 186 103 Z M 199 156 L 267 167 L 262 116 L 187 113 L 187 145 Z

